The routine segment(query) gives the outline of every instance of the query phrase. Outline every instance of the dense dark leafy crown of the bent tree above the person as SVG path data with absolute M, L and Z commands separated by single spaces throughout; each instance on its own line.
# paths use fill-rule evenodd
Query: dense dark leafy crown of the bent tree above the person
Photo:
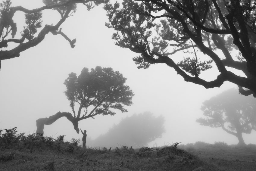
M 133 91 L 128 85 L 124 85 L 126 78 L 119 71 L 112 68 L 101 68 L 97 66 L 89 72 L 88 68 L 83 68 L 77 77 L 75 73 L 70 73 L 64 84 L 67 87 L 65 95 L 70 101 L 70 106 L 77 102 L 81 107 L 87 109 L 94 106 L 91 115 L 114 115 L 110 108 L 127 112 L 123 105 L 130 106 L 132 103 Z

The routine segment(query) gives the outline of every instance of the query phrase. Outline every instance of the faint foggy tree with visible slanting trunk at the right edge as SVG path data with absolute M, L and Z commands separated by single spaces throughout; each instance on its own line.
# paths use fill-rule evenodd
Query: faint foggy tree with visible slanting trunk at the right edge
M 196 122 L 204 126 L 221 127 L 236 136 L 239 145 L 245 145 L 242 133 L 250 134 L 256 130 L 256 99 L 242 96 L 236 93 L 236 89 L 204 101 L 201 110 L 206 118 L 199 118 Z

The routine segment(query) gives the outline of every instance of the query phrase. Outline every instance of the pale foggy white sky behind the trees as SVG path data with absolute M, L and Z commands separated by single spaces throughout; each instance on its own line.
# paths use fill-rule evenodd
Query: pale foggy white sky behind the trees
M 36 8 L 44 5 L 41 0 L 12 0 L 12 6 Z M 55 24 L 59 19 L 57 11 L 43 12 L 43 24 Z M 24 15 L 14 16 L 17 22 L 17 36 L 23 30 Z M 49 117 L 58 111 L 71 112 L 69 102 L 64 95 L 64 80 L 68 74 L 80 74 L 83 67 L 112 67 L 123 73 L 126 84 L 134 91 L 133 105 L 126 107 L 128 113 L 117 111 L 115 116 L 97 116 L 79 122 L 79 128 L 87 130 L 87 136 L 94 139 L 104 134 L 122 118 L 133 113 L 150 111 L 156 116 L 165 117 L 166 132 L 150 146 L 167 145 L 175 142 L 183 144 L 204 141 L 214 143 L 224 141 L 237 144 L 235 136 L 221 128 L 200 126 L 195 120 L 202 117 L 201 103 L 214 95 L 236 85 L 225 82 L 220 88 L 205 89 L 201 85 L 185 82 L 176 72 L 164 64 L 152 65 L 148 69 L 137 69 L 132 58 L 138 54 L 114 45 L 111 39 L 113 30 L 105 27 L 108 22 L 106 12 L 101 6 L 87 11 L 78 5 L 74 16 L 68 18 L 61 26 L 62 31 L 76 38 L 76 47 L 60 35 L 49 33 L 39 45 L 20 53 L 19 58 L 2 61 L 0 72 L 0 128 L 17 127 L 19 132 L 27 134 L 36 131 L 36 120 Z M 4 50 L 4 49 L 3 49 Z M 182 54 L 183 55 L 183 54 Z M 187 54 L 184 54 L 187 55 Z M 179 60 L 180 55 L 173 56 Z M 208 80 L 217 76 L 216 70 L 202 73 Z M 82 138 L 66 118 L 45 126 L 46 136 L 56 138 L 66 135 L 66 140 Z M 256 144 L 255 131 L 243 135 L 245 143 Z M 89 143 L 89 142 L 87 142 Z

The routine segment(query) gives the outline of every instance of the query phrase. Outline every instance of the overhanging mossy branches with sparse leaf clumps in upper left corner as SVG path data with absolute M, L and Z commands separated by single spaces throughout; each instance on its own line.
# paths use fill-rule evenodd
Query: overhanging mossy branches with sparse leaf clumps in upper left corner
M 71 48 L 75 47 L 76 39 L 71 40 L 63 31 L 61 25 L 65 20 L 76 12 L 78 4 L 85 5 L 88 10 L 95 5 L 105 3 L 108 0 L 43 0 L 45 6 L 35 9 L 26 9 L 22 6 L 12 7 L 11 0 L 4 0 L 0 3 L 0 48 L 7 50 L 0 51 L 0 69 L 1 61 L 20 56 L 20 52 L 25 51 L 43 41 L 45 35 L 52 33 L 53 35 L 61 35 L 66 39 Z M 49 23 L 42 29 L 42 11 L 51 9 L 56 10 L 60 14 L 57 23 Z M 25 14 L 24 29 L 17 36 L 17 24 L 14 22 L 14 14 L 22 11 Z M 38 30 L 40 29 L 39 33 Z M 64 30 L 64 29 L 63 29 Z M 15 38 L 18 37 L 18 38 Z M 13 42 L 16 47 L 8 48 L 8 43 Z

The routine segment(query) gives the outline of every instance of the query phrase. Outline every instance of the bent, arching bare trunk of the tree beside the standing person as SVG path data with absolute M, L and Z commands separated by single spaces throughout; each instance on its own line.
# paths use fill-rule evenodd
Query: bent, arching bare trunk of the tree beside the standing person
M 78 128 L 78 120 L 72 116 L 71 113 L 69 112 L 58 112 L 55 115 L 52 115 L 48 118 L 40 118 L 36 120 L 36 133 L 44 134 L 44 126 L 45 125 L 51 125 L 54 123 L 56 120 L 58 120 L 61 117 L 66 117 L 70 122 L 73 123 L 74 129 L 76 130 L 77 133 L 79 133 L 79 128 Z

